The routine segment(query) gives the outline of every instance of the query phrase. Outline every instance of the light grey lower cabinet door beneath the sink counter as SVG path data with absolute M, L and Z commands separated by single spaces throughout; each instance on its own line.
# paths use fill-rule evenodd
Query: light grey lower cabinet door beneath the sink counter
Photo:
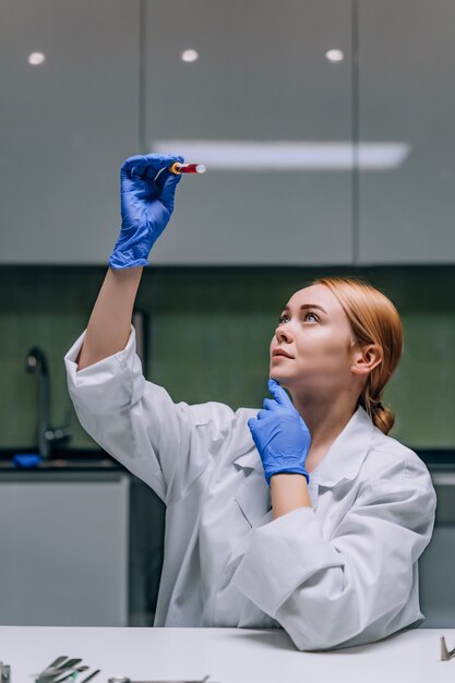
M 0 622 L 128 625 L 129 478 L 0 481 Z

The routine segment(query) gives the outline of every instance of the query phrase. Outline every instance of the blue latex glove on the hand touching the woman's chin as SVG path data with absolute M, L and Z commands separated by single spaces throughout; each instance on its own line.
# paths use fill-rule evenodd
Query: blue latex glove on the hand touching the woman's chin
M 272 475 L 294 472 L 303 475 L 309 482 L 304 468 L 311 443 L 308 427 L 278 382 L 268 380 L 268 390 L 274 398 L 265 398 L 264 409 L 248 420 L 265 479 L 271 486 Z

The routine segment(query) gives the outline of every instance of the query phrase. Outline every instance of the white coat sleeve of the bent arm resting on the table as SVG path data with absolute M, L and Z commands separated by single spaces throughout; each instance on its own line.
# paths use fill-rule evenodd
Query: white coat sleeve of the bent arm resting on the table
M 253 529 L 234 585 L 300 650 L 376 640 L 404 627 L 393 624 L 403 621 L 434 525 L 436 499 L 427 477 L 424 483 L 419 472 L 416 484 L 402 468 L 393 479 L 367 484 L 332 538 L 324 538 L 312 507 Z M 406 625 L 421 618 L 411 612 Z

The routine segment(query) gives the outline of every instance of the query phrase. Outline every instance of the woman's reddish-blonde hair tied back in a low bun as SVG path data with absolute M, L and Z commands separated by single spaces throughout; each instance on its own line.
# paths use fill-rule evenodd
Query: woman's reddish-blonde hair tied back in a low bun
M 311 285 L 325 285 L 343 307 L 359 344 L 375 344 L 381 362 L 367 376 L 358 404 L 373 424 L 387 434 L 395 416 L 381 403 L 384 386 L 395 372 L 403 354 L 403 326 L 398 311 L 385 295 L 369 283 L 354 277 L 321 277 Z

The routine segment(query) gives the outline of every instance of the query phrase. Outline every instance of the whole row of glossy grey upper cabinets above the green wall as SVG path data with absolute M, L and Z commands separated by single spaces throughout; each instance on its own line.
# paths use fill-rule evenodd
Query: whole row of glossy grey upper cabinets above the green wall
M 452 0 L 3 0 L 0 22 L 0 263 L 107 264 L 120 166 L 151 152 L 207 167 L 156 264 L 455 262 Z

